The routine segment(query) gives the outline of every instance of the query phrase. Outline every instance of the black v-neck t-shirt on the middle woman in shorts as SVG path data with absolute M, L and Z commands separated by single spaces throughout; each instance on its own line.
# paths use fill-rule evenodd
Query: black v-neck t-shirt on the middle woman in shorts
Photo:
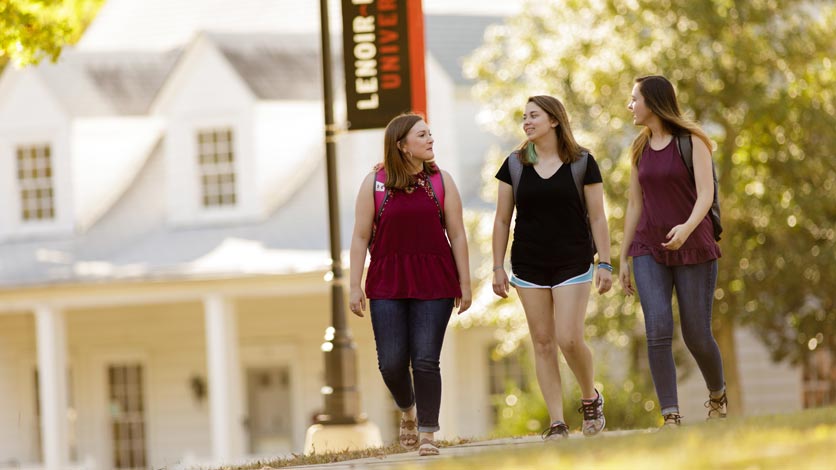
M 496 178 L 511 184 L 508 158 Z M 598 163 L 589 155 L 583 184 L 601 182 Z M 592 241 L 570 164 L 564 163 L 548 178 L 541 177 L 533 166 L 523 166 L 517 198 L 511 245 L 513 267 L 589 268 L 593 260 Z

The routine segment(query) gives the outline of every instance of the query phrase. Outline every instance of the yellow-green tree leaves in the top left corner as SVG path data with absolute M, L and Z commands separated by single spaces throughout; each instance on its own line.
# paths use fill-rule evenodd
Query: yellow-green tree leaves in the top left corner
M 0 68 L 57 60 L 74 44 L 105 0 L 3 0 L 0 2 Z

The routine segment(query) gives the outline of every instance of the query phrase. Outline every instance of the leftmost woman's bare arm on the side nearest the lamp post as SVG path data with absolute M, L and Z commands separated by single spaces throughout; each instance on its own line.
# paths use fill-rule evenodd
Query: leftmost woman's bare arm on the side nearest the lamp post
M 360 185 L 354 206 L 354 232 L 351 235 L 349 307 L 355 315 L 362 317 L 366 309 L 366 296 L 360 283 L 366 267 L 366 251 L 372 237 L 374 224 L 374 173 L 369 173 Z

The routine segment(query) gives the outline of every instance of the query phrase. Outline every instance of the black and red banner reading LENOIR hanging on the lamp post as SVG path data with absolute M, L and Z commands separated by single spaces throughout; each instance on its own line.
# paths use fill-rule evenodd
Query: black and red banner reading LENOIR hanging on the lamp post
M 348 129 L 427 115 L 421 0 L 342 0 Z

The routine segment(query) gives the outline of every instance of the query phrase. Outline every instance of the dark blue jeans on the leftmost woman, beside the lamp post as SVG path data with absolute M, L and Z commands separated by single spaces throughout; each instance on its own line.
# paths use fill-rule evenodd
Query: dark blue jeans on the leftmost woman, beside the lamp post
M 377 364 L 395 403 L 403 411 L 417 405 L 419 432 L 438 431 L 439 358 L 453 299 L 372 299 L 369 310 Z

